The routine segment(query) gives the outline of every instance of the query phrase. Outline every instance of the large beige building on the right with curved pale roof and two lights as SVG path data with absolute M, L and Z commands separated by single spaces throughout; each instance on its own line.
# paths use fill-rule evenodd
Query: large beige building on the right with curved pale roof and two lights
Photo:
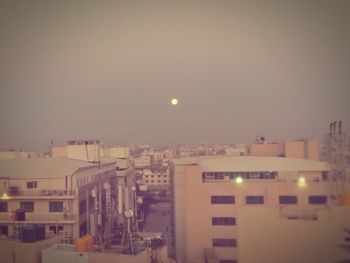
M 296 158 L 174 160 L 170 176 L 176 261 L 306 263 L 341 259 L 345 251 L 337 241 L 343 241 L 342 229 L 350 227 L 350 209 L 337 205 L 341 192 L 325 180 L 327 174 L 324 162 Z M 350 192 L 349 185 L 342 189 Z M 334 238 L 329 238 L 332 231 Z M 255 233 L 262 236 L 255 238 Z M 321 238 L 326 241 L 318 242 Z M 314 251 L 313 244 L 324 249 L 323 257 L 317 252 L 302 253 Z M 290 256 L 295 260 L 291 261 L 290 251 L 307 257 Z M 284 260 L 281 255 L 286 255 Z

